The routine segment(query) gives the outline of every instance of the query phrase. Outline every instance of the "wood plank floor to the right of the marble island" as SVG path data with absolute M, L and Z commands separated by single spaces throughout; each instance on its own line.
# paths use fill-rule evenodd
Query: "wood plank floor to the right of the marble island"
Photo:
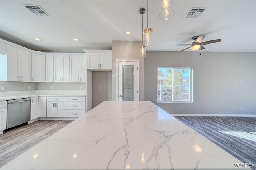
M 176 118 L 256 170 L 256 117 Z

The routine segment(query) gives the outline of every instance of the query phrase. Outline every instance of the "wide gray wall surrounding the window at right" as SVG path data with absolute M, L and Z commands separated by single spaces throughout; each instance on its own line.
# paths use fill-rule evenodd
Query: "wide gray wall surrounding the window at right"
M 158 66 L 193 67 L 193 103 L 157 103 Z M 144 82 L 144 101 L 171 114 L 256 114 L 256 53 L 147 51 Z

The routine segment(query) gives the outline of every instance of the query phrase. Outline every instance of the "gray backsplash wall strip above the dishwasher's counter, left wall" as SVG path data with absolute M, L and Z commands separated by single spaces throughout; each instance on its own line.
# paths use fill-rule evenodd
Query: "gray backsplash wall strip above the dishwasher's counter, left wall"
M 1 90 L 1 91 L 25 91 L 25 90 L 37 89 L 37 83 L 0 81 L 0 84 L 5 88 L 5 90 Z M 31 89 L 28 89 L 28 86 L 31 86 Z

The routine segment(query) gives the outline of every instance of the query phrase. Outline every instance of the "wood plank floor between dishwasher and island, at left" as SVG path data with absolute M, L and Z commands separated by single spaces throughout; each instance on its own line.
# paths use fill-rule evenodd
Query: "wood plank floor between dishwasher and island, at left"
M 0 167 L 72 121 L 36 121 L 0 135 Z

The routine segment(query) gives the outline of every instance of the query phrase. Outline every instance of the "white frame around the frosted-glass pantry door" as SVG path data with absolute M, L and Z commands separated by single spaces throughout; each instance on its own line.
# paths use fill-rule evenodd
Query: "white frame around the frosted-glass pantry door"
M 138 66 L 138 98 L 135 101 L 139 101 L 140 100 L 140 60 L 138 59 L 117 59 L 116 60 L 116 101 L 118 101 L 119 98 L 119 63 L 120 62 L 136 62 L 137 66 Z M 135 68 L 134 68 L 135 69 Z

